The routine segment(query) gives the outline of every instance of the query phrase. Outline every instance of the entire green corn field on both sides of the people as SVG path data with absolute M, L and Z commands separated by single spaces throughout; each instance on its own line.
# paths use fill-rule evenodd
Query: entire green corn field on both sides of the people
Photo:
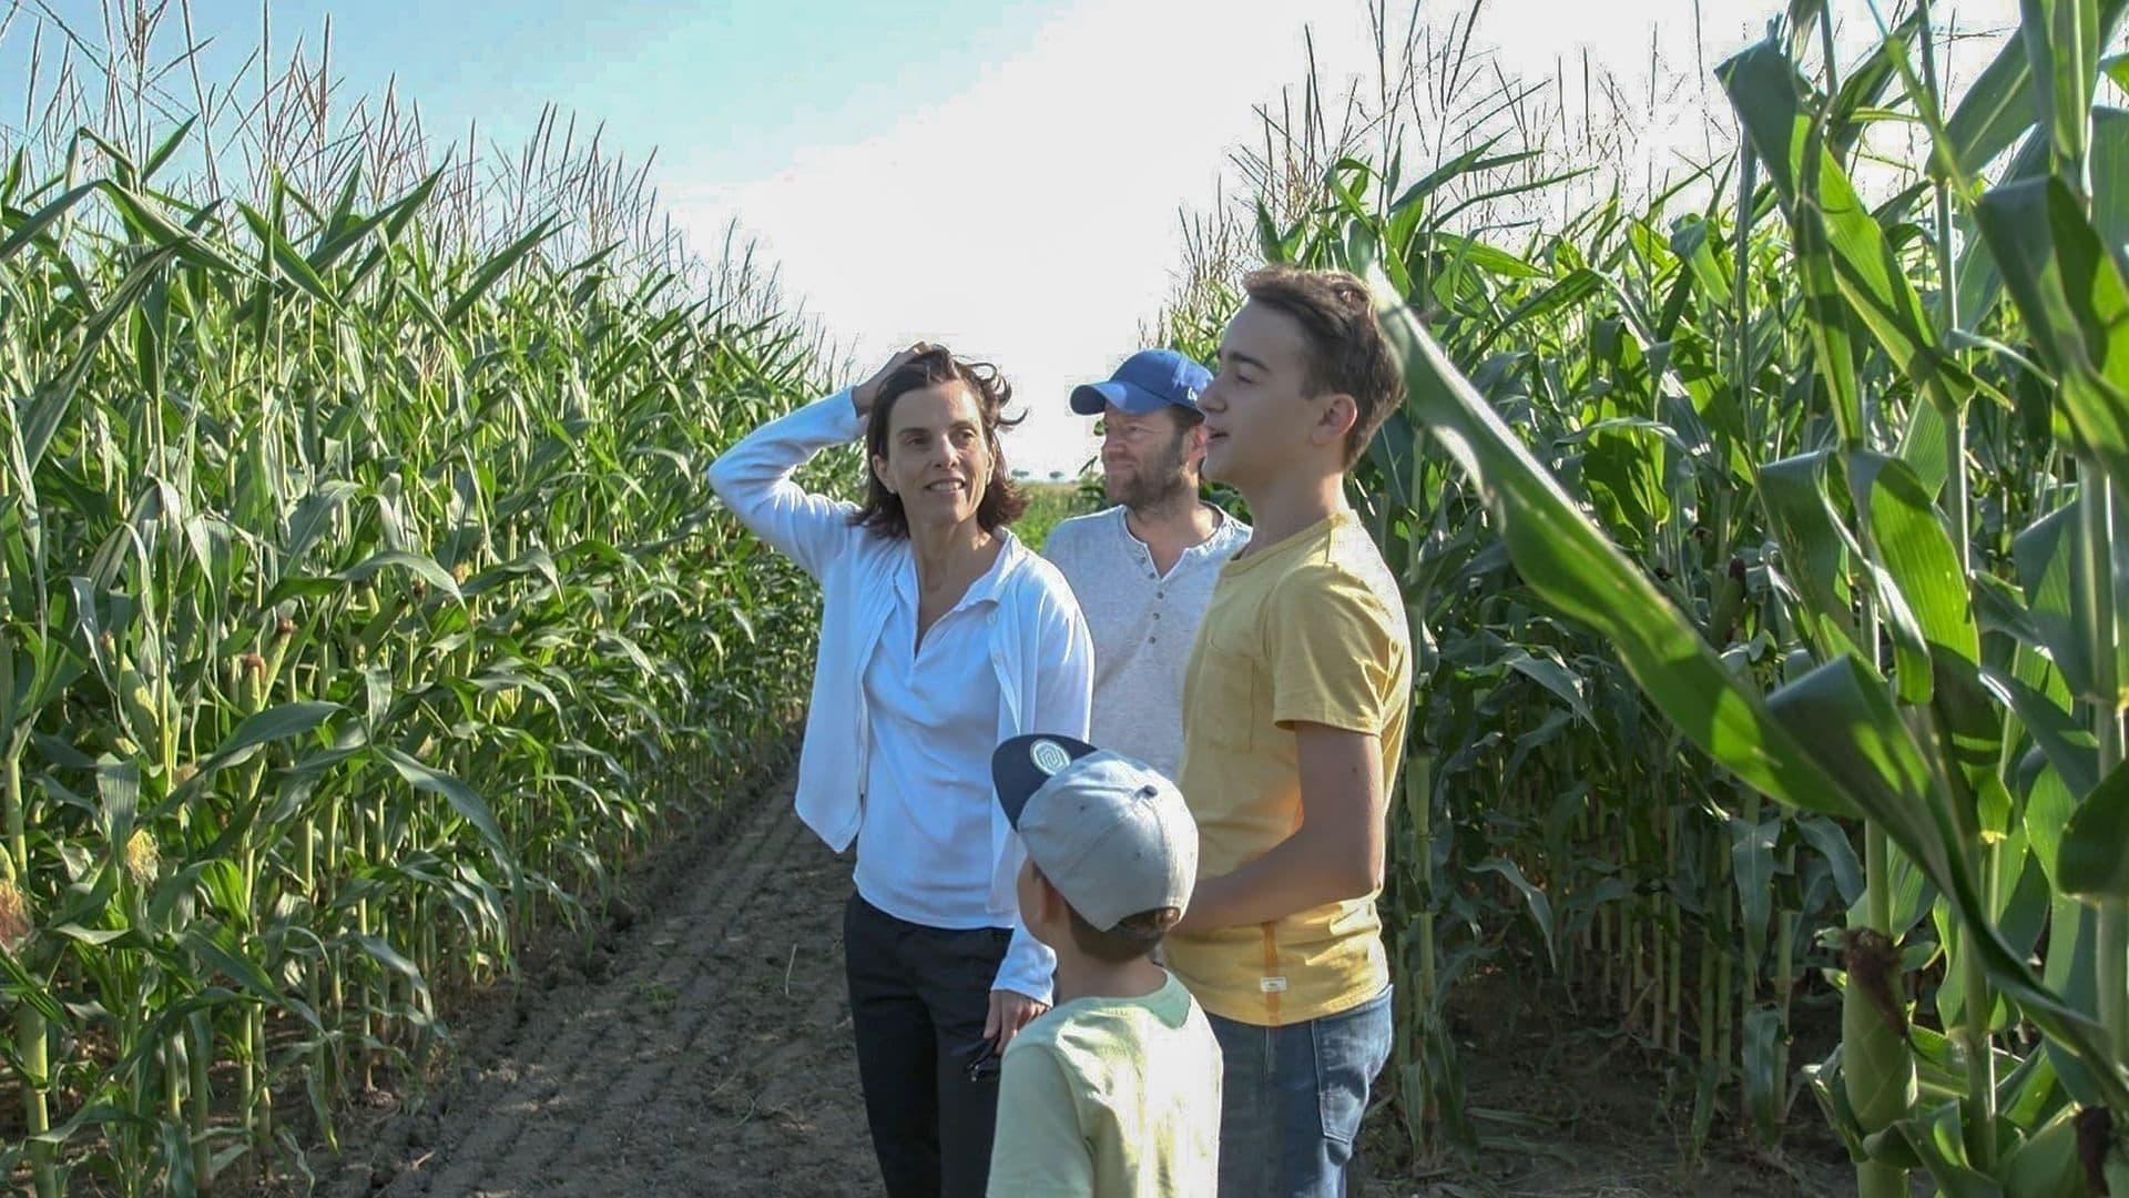
M 1507 970 L 1690 1079 L 1695 1143 L 1820 1119 L 1865 1198 L 2129 1194 L 2125 11 L 2025 0 L 1954 90 L 1927 0 L 1846 58 L 1795 0 L 1707 79 L 1733 151 L 1627 198 L 1627 139 L 1563 160 L 1469 23 L 1375 4 L 1382 90 L 1267 109 L 1239 220 L 1186 226 L 1158 337 L 1343 266 L 1407 362 L 1352 501 L 1418 650 L 1416 1155 L 1495 1134 L 1450 1004 Z M 0 1172 L 38 1194 L 332 1145 L 803 699 L 811 590 L 700 467 L 826 390 L 820 339 L 677 262 L 596 136 L 430 153 L 326 79 L 158 119 L 62 70 L 6 145 Z

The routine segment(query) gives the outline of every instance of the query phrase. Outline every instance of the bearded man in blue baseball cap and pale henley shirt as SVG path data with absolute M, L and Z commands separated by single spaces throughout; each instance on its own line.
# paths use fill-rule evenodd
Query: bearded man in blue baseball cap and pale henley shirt
M 1250 527 L 1199 501 L 1211 373 L 1175 350 L 1139 350 L 1109 382 L 1073 388 L 1101 418 L 1103 512 L 1064 520 L 1043 544 L 1094 635 L 1094 744 L 1167 776 L 1182 765 L 1184 669 L 1220 567 Z

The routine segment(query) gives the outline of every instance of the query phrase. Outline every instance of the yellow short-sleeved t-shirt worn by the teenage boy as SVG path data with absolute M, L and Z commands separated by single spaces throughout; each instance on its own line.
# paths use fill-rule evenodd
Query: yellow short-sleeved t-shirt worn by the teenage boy
M 1405 601 L 1358 516 L 1341 509 L 1228 561 L 1184 676 L 1177 787 L 1199 825 L 1199 878 L 1233 874 L 1301 827 L 1297 723 L 1380 738 L 1390 789 L 1409 710 Z M 1277 1027 L 1382 993 L 1380 934 L 1367 895 L 1165 944 L 1205 1010 Z

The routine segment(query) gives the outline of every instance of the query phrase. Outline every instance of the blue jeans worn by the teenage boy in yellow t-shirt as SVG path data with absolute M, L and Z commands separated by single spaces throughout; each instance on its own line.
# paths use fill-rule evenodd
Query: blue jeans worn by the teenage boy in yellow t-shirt
M 1220 1040 L 1220 1198 L 1343 1198 L 1367 1087 L 1390 1059 L 1390 991 L 1258 1027 L 1207 1013 Z

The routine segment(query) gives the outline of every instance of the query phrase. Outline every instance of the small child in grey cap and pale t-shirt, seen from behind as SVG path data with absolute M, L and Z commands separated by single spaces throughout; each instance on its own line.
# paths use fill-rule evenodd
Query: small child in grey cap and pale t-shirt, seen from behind
M 1209 1198 L 1220 1042 L 1152 959 L 1190 904 L 1190 808 L 1150 765 L 1067 735 L 1007 740 L 992 778 L 1028 855 L 1022 921 L 1056 951 L 1056 1006 L 1005 1049 L 990 1194 Z

